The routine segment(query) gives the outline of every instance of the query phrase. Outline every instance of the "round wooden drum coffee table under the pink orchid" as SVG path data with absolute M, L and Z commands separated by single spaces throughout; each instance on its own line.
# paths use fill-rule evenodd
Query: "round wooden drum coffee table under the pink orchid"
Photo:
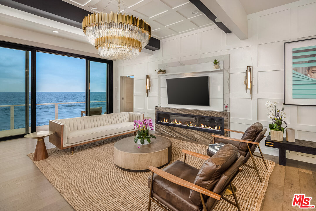
M 156 168 L 167 165 L 171 160 L 171 141 L 161 136 L 150 140 L 147 145 L 136 144 L 133 136 L 117 141 L 114 144 L 115 165 L 132 172 L 149 171 L 150 165 Z

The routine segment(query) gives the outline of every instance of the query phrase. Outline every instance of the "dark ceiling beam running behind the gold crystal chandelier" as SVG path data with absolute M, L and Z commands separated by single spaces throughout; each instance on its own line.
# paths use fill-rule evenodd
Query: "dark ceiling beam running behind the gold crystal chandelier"
M 0 0 L 0 4 L 76 28 L 82 28 L 83 17 L 91 14 L 62 0 Z M 145 48 L 159 50 L 160 40 L 151 37 Z

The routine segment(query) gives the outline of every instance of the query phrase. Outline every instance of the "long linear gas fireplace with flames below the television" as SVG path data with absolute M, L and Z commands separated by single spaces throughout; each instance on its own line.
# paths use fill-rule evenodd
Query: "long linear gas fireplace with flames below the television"
M 157 111 L 156 123 L 209 133 L 224 134 L 224 118 Z

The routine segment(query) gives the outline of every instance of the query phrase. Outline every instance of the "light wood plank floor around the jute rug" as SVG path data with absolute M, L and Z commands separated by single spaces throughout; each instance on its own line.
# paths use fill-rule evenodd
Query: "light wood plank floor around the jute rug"
M 54 147 L 48 137 L 45 143 L 47 148 Z M 35 146 L 36 140 L 27 138 L 0 142 L 0 210 L 73 210 L 27 157 L 28 153 L 34 152 Z M 276 166 L 270 177 L 262 211 L 299 210 L 291 206 L 293 194 L 296 193 L 312 197 L 312 204 L 316 205 L 315 164 L 288 159 L 287 166 L 281 166 L 277 164 L 278 157 L 265 155 L 265 158 L 275 161 Z M 308 210 L 315 209 L 304 209 Z

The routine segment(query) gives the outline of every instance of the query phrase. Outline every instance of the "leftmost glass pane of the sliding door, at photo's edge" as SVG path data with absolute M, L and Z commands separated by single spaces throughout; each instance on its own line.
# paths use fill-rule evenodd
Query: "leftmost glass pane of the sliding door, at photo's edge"
M 0 138 L 30 131 L 31 52 L 0 47 Z

